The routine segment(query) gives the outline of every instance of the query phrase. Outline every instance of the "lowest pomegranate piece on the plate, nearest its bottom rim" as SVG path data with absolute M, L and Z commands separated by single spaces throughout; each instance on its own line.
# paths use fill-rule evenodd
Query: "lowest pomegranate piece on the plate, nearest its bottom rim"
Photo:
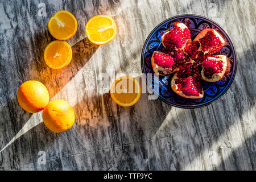
M 180 78 L 175 73 L 171 80 L 171 88 L 179 96 L 185 98 L 202 98 L 204 96 L 200 81 L 192 76 Z

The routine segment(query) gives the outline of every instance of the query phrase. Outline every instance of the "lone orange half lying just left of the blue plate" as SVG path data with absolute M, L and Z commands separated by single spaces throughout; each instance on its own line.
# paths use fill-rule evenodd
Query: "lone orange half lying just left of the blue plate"
M 135 78 L 122 76 L 113 82 L 110 95 L 118 105 L 132 106 L 141 97 L 141 86 Z

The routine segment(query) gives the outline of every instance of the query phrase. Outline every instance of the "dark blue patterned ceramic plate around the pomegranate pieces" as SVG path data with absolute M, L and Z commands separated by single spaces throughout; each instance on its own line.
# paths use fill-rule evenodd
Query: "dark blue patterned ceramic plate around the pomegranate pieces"
M 170 86 L 171 78 L 174 74 L 168 76 L 159 76 L 159 81 L 154 79 L 155 73 L 151 66 L 151 56 L 154 51 L 162 51 L 163 45 L 161 42 L 162 35 L 171 30 L 174 22 L 182 22 L 188 24 L 188 28 L 191 31 L 191 39 L 195 39 L 205 28 L 214 28 L 225 38 L 228 43 L 227 46 L 222 47 L 219 52 L 214 55 L 225 55 L 230 60 L 225 75 L 220 81 L 206 82 L 201 81 L 203 84 L 204 97 L 200 99 L 183 98 L 172 91 Z M 160 100 L 170 104 L 172 106 L 181 108 L 197 108 L 208 105 L 217 98 L 220 98 L 230 87 L 236 75 L 237 63 L 236 63 L 236 50 L 228 34 L 215 22 L 199 15 L 179 15 L 164 20 L 158 26 L 151 31 L 148 35 L 146 42 L 144 43 L 141 56 L 141 66 L 144 77 L 147 80 L 147 84 L 150 86 L 154 94 L 160 98 Z M 148 74 L 151 73 L 151 74 Z

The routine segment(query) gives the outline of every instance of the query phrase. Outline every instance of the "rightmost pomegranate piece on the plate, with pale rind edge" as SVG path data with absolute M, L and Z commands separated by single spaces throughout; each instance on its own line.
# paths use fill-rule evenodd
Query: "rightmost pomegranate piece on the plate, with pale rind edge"
M 226 71 L 227 59 L 223 55 L 207 57 L 202 63 L 202 79 L 208 82 L 221 80 Z

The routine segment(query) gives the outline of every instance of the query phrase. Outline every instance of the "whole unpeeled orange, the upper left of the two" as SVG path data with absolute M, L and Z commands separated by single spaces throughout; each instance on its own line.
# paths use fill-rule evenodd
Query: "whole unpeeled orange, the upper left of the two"
M 48 104 L 49 93 L 42 82 L 30 80 L 19 86 L 17 99 L 22 109 L 37 113 Z

